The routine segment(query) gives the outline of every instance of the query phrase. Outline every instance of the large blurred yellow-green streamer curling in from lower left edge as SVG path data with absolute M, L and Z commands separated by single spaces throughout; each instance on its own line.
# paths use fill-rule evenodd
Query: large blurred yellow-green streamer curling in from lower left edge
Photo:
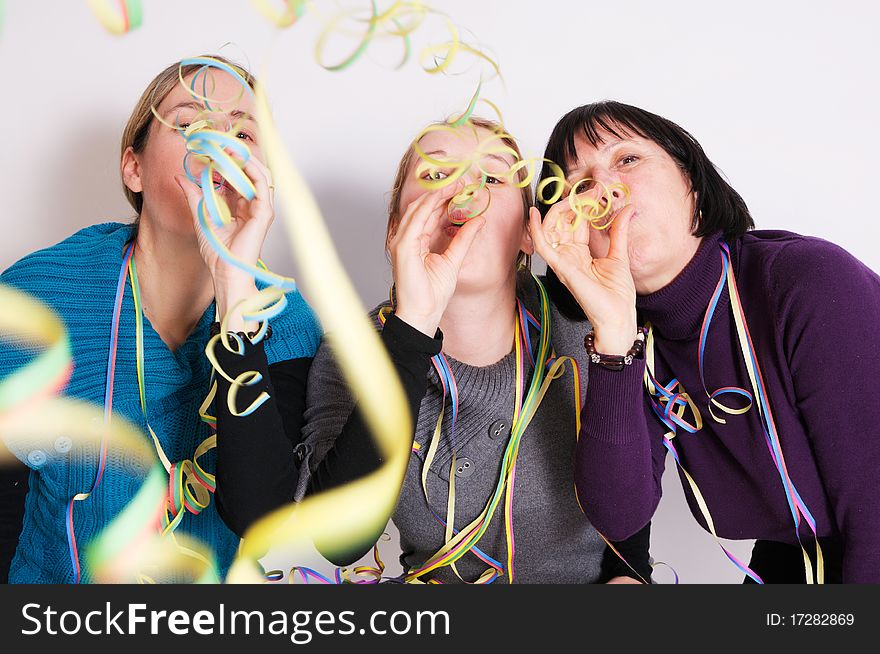
M 82 449 L 99 452 L 103 461 L 108 450 L 118 449 L 126 452 L 124 460 L 134 466 L 131 474 L 138 475 L 153 467 L 154 452 L 130 422 L 102 414 L 92 404 L 57 397 L 69 379 L 72 360 L 67 333 L 54 312 L 6 286 L 0 286 L 0 307 L 0 336 L 10 344 L 36 350 L 25 366 L 0 380 L 0 437 L 9 447 L 19 452 L 42 452 L 46 457 L 44 465 L 71 465 L 68 453 Z M 158 525 L 151 516 L 158 515 L 160 506 L 152 499 L 154 487 L 155 482 L 145 482 L 117 520 L 89 546 L 94 546 L 96 552 L 91 558 L 87 555 L 96 566 L 91 572 L 97 571 L 101 580 L 135 580 L 142 572 L 131 552 L 137 550 L 144 556 L 153 556 L 151 552 L 157 546 L 152 541 L 158 536 Z M 163 491 L 164 487 L 163 479 Z M 88 499 L 90 493 L 76 494 L 69 511 L 76 502 Z M 188 550 L 196 549 L 204 551 L 201 545 L 190 543 Z M 167 550 L 160 557 L 166 571 L 185 567 L 181 561 L 190 558 L 191 555 L 178 556 Z M 82 572 L 75 541 L 72 564 L 78 580 Z

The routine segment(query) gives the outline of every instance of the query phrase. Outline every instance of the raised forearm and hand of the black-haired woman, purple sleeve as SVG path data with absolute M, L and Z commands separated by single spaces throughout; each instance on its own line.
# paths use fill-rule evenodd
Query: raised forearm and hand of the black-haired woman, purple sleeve
M 632 206 L 619 209 L 606 257 L 589 248 L 590 227 L 577 222 L 568 202 L 553 205 L 544 221 L 531 209 L 529 230 L 538 254 L 589 318 L 596 350 L 623 355 L 636 337 L 636 291 L 627 249 Z M 625 540 L 645 527 L 660 501 L 664 450 L 649 433 L 642 387 L 645 361 L 613 371 L 590 363 L 575 450 L 575 486 L 581 510 L 606 538 Z

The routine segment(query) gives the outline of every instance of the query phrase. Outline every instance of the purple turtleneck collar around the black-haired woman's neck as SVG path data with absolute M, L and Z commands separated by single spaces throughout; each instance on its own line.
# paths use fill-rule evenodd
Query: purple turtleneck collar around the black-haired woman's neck
M 669 340 L 688 340 L 699 335 L 721 276 L 721 240 L 720 232 L 703 238 L 693 258 L 675 279 L 659 291 L 636 298 L 642 323 L 650 322 L 660 336 Z M 723 293 L 716 311 L 723 311 L 728 303 L 729 297 Z

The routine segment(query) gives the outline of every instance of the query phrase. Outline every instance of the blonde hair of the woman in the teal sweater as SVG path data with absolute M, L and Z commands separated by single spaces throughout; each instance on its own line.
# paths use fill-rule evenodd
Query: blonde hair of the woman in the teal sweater
M 245 81 L 247 81 L 251 88 L 255 87 L 257 82 L 256 78 L 254 78 L 250 71 L 239 64 L 219 55 L 202 56 L 210 57 L 211 59 L 215 59 L 233 68 L 245 79 Z M 150 136 L 150 127 L 155 121 L 152 108 L 156 107 L 158 109 L 159 105 L 168 94 L 171 93 L 174 87 L 180 84 L 181 76 L 186 77 L 190 73 L 194 73 L 204 67 L 204 64 L 187 64 L 185 66 L 181 66 L 180 64 L 181 62 L 178 61 L 168 66 L 165 70 L 156 75 L 156 77 L 153 78 L 153 81 L 147 85 L 146 89 L 144 89 L 140 100 L 138 100 L 131 112 L 131 116 L 128 117 L 125 129 L 122 131 L 122 144 L 119 151 L 120 160 L 129 147 L 135 152 L 135 154 L 140 154 L 144 151 L 144 148 L 147 146 L 147 140 Z M 121 174 L 120 171 L 120 176 Z M 128 186 L 125 185 L 124 179 L 122 180 L 122 191 L 125 193 L 125 198 L 128 200 L 128 203 L 138 213 L 138 217 L 140 217 L 141 209 L 143 209 L 144 206 L 143 194 L 135 193 L 128 188 Z

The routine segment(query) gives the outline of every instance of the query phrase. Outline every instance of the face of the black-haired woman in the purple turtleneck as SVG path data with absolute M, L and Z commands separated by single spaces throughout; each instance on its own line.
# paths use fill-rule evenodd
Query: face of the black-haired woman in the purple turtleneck
M 598 146 L 579 134 L 577 159 L 566 165 L 567 180 L 574 184 L 590 177 L 606 186 L 623 183 L 629 188 L 635 208 L 629 226 L 630 270 L 636 292 L 645 295 L 675 279 L 699 246 L 691 228 L 694 196 L 687 176 L 663 148 L 650 139 L 620 133 L 624 138 L 600 131 Z M 601 192 L 598 185 L 596 189 Z M 614 196 L 616 210 L 624 197 L 620 192 Z M 607 256 L 609 244 L 609 230 L 590 230 L 594 258 Z

